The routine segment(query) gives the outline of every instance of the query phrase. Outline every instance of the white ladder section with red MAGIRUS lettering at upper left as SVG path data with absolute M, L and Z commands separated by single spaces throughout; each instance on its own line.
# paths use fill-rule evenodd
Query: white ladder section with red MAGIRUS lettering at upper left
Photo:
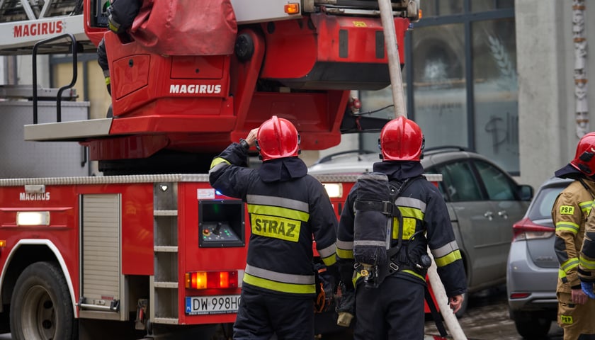
M 35 42 L 55 35 L 74 35 L 85 51 L 96 47 L 86 37 L 83 0 L 0 0 L 0 55 L 30 55 Z M 67 52 L 57 41 L 40 53 Z

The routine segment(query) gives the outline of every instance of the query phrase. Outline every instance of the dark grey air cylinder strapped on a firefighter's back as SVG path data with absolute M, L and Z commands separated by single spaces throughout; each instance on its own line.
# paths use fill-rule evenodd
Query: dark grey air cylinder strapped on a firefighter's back
M 368 266 L 386 262 L 387 227 L 390 221 L 390 189 L 385 174 L 371 172 L 358 177 L 353 226 L 353 257 Z

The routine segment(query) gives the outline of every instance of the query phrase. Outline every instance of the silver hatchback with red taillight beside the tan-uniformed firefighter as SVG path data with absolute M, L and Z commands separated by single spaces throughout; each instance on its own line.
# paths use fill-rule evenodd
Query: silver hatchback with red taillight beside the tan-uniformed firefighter
M 512 229 L 506 291 L 510 317 L 525 339 L 543 339 L 556 319 L 558 267 L 554 251 L 554 201 L 570 179 L 552 178 L 538 189 L 522 220 Z

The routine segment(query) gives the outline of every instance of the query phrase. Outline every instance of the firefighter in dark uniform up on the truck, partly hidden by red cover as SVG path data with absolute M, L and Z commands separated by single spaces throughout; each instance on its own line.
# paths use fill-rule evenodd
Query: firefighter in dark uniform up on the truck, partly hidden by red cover
M 106 4 L 109 4 L 109 1 Z M 140 11 L 140 6 L 142 6 L 142 0 L 113 0 L 107 8 L 109 29 L 118 34 L 120 39 L 130 40 L 128 29 L 132 27 L 132 22 Z M 97 63 L 103 71 L 108 94 L 111 96 L 111 77 L 105 38 L 101 38 L 97 45 Z

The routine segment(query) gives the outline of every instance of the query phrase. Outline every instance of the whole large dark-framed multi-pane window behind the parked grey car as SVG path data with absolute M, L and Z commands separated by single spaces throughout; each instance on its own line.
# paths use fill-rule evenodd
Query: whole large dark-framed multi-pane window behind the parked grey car
M 514 0 L 424 0 L 421 9 L 404 45 L 407 116 L 427 147 L 467 147 L 518 175 Z M 367 109 L 392 103 L 390 89 L 360 98 Z

